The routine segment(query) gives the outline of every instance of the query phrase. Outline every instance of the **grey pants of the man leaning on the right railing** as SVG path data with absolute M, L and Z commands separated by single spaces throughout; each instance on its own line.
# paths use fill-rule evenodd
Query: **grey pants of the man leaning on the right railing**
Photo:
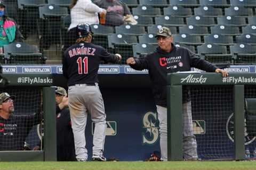
M 159 121 L 161 159 L 167 160 L 167 108 L 156 105 Z M 197 158 L 197 143 L 193 133 L 191 101 L 183 104 L 183 158 Z

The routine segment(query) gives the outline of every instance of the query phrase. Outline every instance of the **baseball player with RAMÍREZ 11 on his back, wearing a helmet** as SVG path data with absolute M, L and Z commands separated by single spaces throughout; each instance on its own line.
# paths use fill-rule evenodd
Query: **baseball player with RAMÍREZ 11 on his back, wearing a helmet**
M 93 32 L 87 23 L 77 25 L 76 35 L 76 44 L 66 49 L 62 61 L 63 75 L 68 79 L 68 105 L 76 159 L 86 161 L 88 157 L 84 132 L 87 114 L 90 113 L 95 123 L 92 160 L 106 161 L 103 156 L 106 114 L 98 86 L 98 70 L 100 61 L 116 63 L 122 56 L 110 54 L 105 48 L 92 44 Z

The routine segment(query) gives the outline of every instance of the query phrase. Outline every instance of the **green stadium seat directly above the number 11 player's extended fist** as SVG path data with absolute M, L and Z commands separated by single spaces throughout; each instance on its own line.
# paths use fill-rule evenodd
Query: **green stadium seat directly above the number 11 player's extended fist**
M 137 44 L 137 36 L 125 35 L 123 33 L 116 33 L 108 36 L 108 50 L 111 53 L 118 53 L 122 55 L 122 63 L 128 57 L 133 56 L 132 45 Z

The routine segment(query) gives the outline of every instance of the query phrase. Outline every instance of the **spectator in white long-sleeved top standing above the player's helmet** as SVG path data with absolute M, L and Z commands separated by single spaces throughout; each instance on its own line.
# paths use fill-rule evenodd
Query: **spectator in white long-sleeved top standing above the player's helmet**
M 75 30 L 77 24 L 99 24 L 98 13 L 100 15 L 106 15 L 107 13 L 105 9 L 93 4 L 91 0 L 72 0 L 69 8 L 71 24 L 69 25 L 67 37 L 65 38 L 63 51 L 76 42 L 77 36 Z

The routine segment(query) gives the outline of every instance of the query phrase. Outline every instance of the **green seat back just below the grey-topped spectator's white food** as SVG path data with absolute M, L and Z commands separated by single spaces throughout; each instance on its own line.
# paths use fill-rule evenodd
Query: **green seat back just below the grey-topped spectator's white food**
M 124 33 L 129 35 L 141 35 L 143 33 L 146 33 L 145 27 L 130 24 L 115 27 L 115 30 L 116 33 Z

